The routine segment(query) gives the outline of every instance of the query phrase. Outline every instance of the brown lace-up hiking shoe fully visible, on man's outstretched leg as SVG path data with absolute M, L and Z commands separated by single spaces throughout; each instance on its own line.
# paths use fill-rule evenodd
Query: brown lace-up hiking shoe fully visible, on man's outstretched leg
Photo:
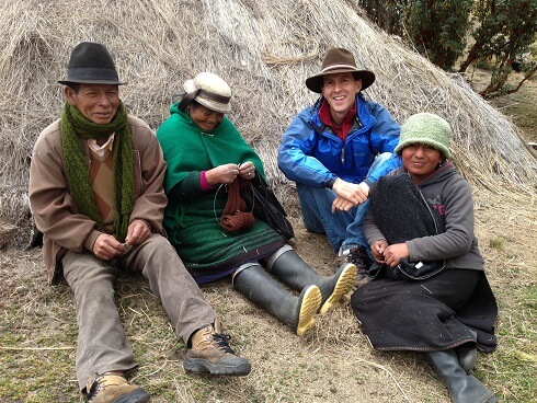
M 188 372 L 225 376 L 244 376 L 251 366 L 245 358 L 237 356 L 228 345 L 230 337 L 221 333 L 220 321 L 197 330 L 191 338 L 192 348 L 183 358 Z

